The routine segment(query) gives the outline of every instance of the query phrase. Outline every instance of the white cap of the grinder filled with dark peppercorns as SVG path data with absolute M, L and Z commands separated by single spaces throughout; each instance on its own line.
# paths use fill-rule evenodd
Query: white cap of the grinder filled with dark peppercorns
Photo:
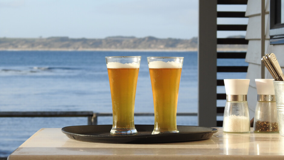
M 274 95 L 274 79 L 255 79 L 257 94 Z

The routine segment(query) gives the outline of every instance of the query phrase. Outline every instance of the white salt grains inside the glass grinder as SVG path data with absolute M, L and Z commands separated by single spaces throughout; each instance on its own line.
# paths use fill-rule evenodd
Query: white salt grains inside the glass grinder
M 249 132 L 250 131 L 250 119 L 245 116 L 230 115 L 224 117 L 223 120 L 224 132 Z

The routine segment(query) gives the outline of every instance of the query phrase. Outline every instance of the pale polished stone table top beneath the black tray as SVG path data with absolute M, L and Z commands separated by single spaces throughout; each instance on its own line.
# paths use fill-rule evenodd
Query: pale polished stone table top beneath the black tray
M 210 139 L 156 144 L 109 144 L 69 139 L 60 128 L 43 128 L 16 149 L 8 160 L 33 159 L 284 159 L 279 133 L 226 134 Z

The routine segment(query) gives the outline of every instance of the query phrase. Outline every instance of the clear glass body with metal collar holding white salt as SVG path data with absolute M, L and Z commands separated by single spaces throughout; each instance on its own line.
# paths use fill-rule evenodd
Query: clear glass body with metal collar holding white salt
M 249 133 L 247 95 L 227 95 L 223 120 L 224 133 Z

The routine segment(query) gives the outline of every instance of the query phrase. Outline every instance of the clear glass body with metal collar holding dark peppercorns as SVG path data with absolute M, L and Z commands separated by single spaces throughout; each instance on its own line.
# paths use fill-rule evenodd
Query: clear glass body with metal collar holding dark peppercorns
M 254 114 L 253 131 L 279 133 L 275 95 L 259 95 Z

